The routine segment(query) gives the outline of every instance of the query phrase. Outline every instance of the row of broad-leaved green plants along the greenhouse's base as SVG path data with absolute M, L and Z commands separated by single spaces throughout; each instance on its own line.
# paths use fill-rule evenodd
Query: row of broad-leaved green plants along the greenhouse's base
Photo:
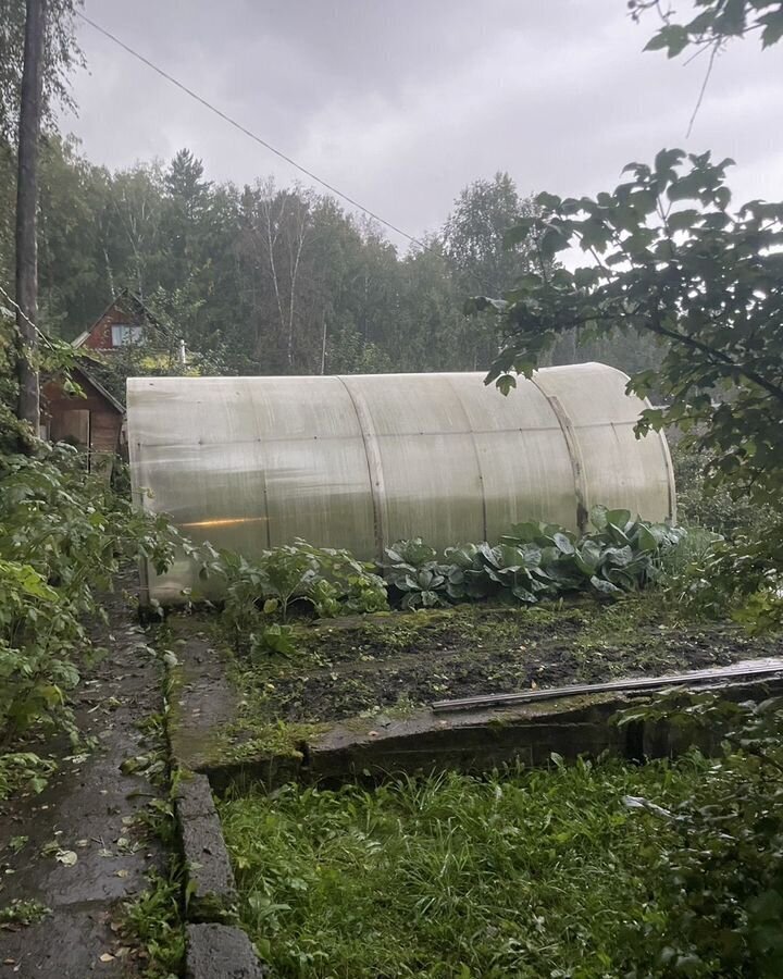
M 225 581 L 222 619 L 238 647 L 290 655 L 293 608 L 331 618 L 387 611 L 389 597 L 403 609 L 534 604 L 584 591 L 618 597 L 657 581 L 663 556 L 685 536 L 629 510 L 598 506 L 591 519 L 594 531 L 581 537 L 554 524 L 519 523 L 495 545 L 460 544 L 443 554 L 421 537 L 398 541 L 377 568 L 298 540 L 254 561 L 222 552 L 204 571 Z

